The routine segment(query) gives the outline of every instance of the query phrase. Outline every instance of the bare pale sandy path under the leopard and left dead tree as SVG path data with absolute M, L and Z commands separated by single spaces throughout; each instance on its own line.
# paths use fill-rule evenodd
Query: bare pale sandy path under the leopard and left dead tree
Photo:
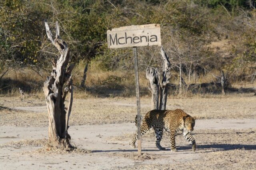
M 194 133 L 200 129 L 248 129 L 254 128 L 255 125 L 256 119 L 197 120 Z M 0 147 L 0 169 L 118 169 L 124 166 L 142 164 L 171 164 L 177 160 L 184 162 L 198 159 L 204 154 L 202 149 L 192 153 L 188 145 L 178 147 L 176 153 L 170 152 L 170 149 L 159 151 L 156 149 L 154 141 L 143 141 L 142 138 L 142 152 L 154 155 L 157 159 L 126 158 L 133 153 L 136 155 L 137 152 L 136 149 L 132 149 L 128 145 L 130 141 L 113 141 L 110 138 L 135 131 L 134 123 L 71 126 L 69 133 L 72 142 L 79 148 L 92 150 L 92 153 L 72 153 L 60 156 L 58 154 L 49 155 L 34 152 L 30 154 L 27 152 L 41 148 L 36 146 Z M 47 136 L 47 127 L 0 127 L 0 145 L 25 139 L 43 139 Z M 168 145 L 168 143 L 164 144 Z M 177 144 L 177 146 L 179 145 Z

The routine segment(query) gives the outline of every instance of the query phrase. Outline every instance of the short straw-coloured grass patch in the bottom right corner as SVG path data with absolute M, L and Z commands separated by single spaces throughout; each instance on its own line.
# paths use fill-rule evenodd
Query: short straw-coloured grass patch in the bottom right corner
M 181 162 L 177 160 L 174 164 L 136 164 L 131 166 L 118 167 L 119 169 L 154 169 L 154 170 L 241 170 L 256 169 L 255 150 L 235 149 L 229 151 L 216 151 L 205 154 L 200 159 Z M 116 168 L 113 168 L 116 169 Z

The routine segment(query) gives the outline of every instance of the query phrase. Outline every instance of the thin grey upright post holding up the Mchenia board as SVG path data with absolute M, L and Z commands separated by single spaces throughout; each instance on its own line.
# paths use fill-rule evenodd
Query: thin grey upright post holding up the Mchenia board
M 134 56 L 134 70 L 135 70 L 135 83 L 136 83 L 136 98 L 137 98 L 137 127 L 138 127 L 138 155 L 141 155 L 141 135 L 140 135 L 140 83 L 138 73 L 138 57 L 137 47 L 133 47 Z

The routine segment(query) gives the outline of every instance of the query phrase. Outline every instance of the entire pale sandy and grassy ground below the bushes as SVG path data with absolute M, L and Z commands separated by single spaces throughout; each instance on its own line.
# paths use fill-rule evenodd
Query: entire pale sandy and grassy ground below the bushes
M 129 146 L 136 131 L 134 98 L 75 99 L 69 133 L 78 150 L 44 147 L 48 137 L 45 103 L 40 99 L 0 98 L 0 169 L 256 169 L 256 100 L 251 96 L 170 99 L 196 120 L 192 152 L 181 134 L 178 152 L 170 151 L 168 133 L 155 147 L 154 134 L 142 137 L 142 156 Z M 142 115 L 150 110 L 142 98 Z

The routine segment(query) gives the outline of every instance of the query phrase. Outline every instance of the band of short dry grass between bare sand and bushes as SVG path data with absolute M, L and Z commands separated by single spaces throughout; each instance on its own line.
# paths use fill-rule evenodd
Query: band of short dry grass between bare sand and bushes
M 141 99 L 142 116 L 151 109 L 151 99 Z M 32 112 L 30 106 L 44 106 L 42 99 L 0 98 L 0 105 L 8 108 L 27 106 L 27 111 L 1 110 L 0 125 L 47 126 L 48 113 Z M 166 109 L 181 108 L 198 119 L 248 118 L 256 116 L 256 100 L 252 94 L 203 95 L 192 98 L 169 97 Z M 70 125 L 134 122 L 136 98 L 74 99 Z M 29 121 L 28 121 L 29 120 Z

